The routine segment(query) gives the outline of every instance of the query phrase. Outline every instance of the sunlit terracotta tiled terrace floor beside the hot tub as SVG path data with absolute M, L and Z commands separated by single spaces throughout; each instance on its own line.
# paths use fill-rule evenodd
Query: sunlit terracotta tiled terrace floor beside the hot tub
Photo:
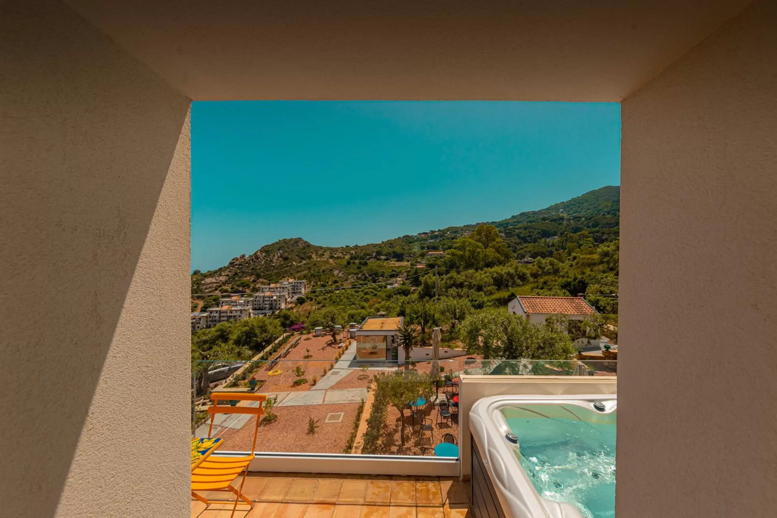
M 451 478 L 252 473 L 235 518 L 471 518 L 469 484 Z M 237 481 L 239 484 L 239 479 Z M 212 499 L 228 493 L 211 493 Z M 192 500 L 192 518 L 229 518 L 232 504 Z

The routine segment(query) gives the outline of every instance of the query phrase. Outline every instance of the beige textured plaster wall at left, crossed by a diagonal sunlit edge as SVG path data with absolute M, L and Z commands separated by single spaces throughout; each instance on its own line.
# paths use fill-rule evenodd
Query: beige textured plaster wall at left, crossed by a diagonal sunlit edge
M 2 516 L 188 516 L 189 99 L 0 5 Z

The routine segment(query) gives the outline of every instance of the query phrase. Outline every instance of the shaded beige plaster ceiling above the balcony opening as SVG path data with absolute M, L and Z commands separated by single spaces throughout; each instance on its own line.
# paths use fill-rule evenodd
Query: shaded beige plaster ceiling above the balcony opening
M 66 0 L 191 99 L 620 101 L 748 0 Z

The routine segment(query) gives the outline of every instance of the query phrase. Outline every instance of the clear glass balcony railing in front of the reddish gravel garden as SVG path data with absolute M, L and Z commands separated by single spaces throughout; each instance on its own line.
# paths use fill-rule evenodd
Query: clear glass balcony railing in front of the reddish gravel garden
M 268 399 L 258 451 L 458 457 L 453 446 L 458 443 L 462 375 L 617 373 L 614 360 L 484 360 L 465 355 L 438 360 L 435 365 L 422 348 L 400 366 L 385 356 L 360 357 L 355 341 L 345 340 L 342 346 L 322 344 L 322 340 L 298 337 L 250 359 L 194 362 L 193 435 L 221 437 L 221 451 L 249 450 L 256 417 L 218 414 L 211 428 L 208 396 L 213 391 L 260 393 Z

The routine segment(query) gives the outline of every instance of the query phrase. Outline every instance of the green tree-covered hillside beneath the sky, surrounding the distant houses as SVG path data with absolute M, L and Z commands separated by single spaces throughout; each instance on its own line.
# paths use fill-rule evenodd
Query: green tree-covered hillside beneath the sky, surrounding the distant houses
M 591 322 L 597 329 L 575 329 L 573 338 L 608 329 L 611 339 L 617 339 L 619 214 L 619 188 L 607 186 L 501 221 L 370 245 L 323 247 L 301 238 L 282 239 L 222 268 L 195 271 L 193 301 L 205 299 L 207 307 L 218 301 L 207 294 L 251 292 L 289 276 L 308 281 L 304 300 L 266 318 L 279 325 L 274 332 L 225 323 L 198 332 L 193 344 L 200 358 L 247 356 L 274 339 L 280 328 L 347 325 L 384 311 L 418 325 L 420 342 L 428 340 L 432 326 L 441 325 L 444 341 L 463 343 L 486 356 L 563 359 L 573 350 L 569 337 L 553 329 L 537 334 L 514 322 L 507 302 L 518 294 L 584 294 L 601 316 Z M 431 257 L 431 250 L 445 253 Z M 512 343 L 511 349 L 477 350 L 486 343 L 486 325 L 494 333 L 511 330 L 497 339 L 503 346 Z M 261 338 L 249 341 L 246 333 Z

